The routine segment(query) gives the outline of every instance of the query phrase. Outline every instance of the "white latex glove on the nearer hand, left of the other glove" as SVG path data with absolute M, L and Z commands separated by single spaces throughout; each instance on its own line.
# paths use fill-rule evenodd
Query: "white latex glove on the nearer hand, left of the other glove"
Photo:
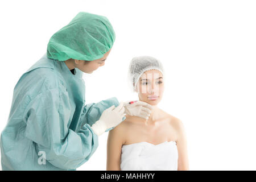
M 120 102 L 117 107 L 113 105 L 104 110 L 100 119 L 92 125 L 92 130 L 96 135 L 100 136 L 106 130 L 121 123 L 124 116 L 125 108 L 123 107 L 123 102 Z

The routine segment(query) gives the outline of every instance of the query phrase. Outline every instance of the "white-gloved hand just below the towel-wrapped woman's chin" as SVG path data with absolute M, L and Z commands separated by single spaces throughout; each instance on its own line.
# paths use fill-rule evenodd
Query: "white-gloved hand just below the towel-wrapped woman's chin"
M 143 101 L 135 101 L 133 104 L 125 102 L 124 105 L 125 114 L 135 115 L 144 119 L 148 119 L 152 110 L 152 106 Z

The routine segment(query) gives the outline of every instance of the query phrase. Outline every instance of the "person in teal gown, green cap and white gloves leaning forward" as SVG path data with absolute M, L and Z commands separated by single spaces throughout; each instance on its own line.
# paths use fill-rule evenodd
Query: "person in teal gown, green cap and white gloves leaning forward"
M 1 133 L 3 170 L 76 169 L 126 113 L 148 118 L 152 107 L 141 101 L 125 105 L 113 97 L 85 105 L 82 73 L 105 64 L 114 40 L 105 16 L 82 12 L 51 37 L 46 55 L 15 85 Z

